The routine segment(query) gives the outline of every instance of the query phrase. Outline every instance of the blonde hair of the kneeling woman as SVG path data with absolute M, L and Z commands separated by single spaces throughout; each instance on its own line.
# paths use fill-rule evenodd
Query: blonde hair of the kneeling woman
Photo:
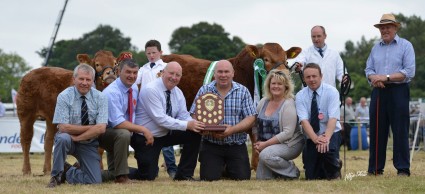
M 270 92 L 270 82 L 272 78 L 281 81 L 285 86 L 283 97 L 286 99 L 294 98 L 294 83 L 292 82 L 291 77 L 284 71 L 278 69 L 271 70 L 267 75 L 266 81 L 264 82 L 264 94 L 266 98 L 273 100 L 273 96 Z

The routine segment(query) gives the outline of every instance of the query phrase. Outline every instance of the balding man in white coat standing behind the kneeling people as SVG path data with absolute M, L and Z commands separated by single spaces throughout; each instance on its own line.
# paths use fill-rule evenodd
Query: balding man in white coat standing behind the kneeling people
M 332 50 L 325 43 L 326 30 L 323 26 L 314 26 L 311 29 L 311 41 L 313 46 L 303 51 L 295 58 L 298 62 L 297 68 L 301 68 L 308 63 L 316 63 L 323 72 L 322 82 L 336 87 L 335 79 L 342 81 L 344 67 L 341 56 L 335 50 Z

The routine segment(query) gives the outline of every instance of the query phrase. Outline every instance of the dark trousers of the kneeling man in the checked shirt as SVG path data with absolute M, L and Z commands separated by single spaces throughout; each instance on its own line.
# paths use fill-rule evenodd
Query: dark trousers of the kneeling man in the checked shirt
M 242 145 L 218 145 L 202 141 L 199 151 L 201 180 L 214 181 L 222 177 L 223 170 L 232 180 L 249 180 L 251 168 L 248 150 Z

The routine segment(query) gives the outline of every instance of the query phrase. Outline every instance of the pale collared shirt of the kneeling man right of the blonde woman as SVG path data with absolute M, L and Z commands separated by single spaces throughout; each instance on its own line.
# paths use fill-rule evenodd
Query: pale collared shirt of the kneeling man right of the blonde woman
M 297 115 L 301 121 L 309 121 L 311 115 L 311 100 L 313 99 L 313 90 L 305 87 L 300 90 L 296 95 L 296 108 Z M 330 118 L 340 120 L 339 110 L 339 93 L 335 87 L 322 83 L 317 92 L 317 105 L 319 106 L 319 115 L 322 114 L 323 118 L 320 119 L 320 131 L 317 134 L 322 134 L 326 131 L 326 127 Z M 334 133 L 341 130 L 341 124 L 336 122 Z

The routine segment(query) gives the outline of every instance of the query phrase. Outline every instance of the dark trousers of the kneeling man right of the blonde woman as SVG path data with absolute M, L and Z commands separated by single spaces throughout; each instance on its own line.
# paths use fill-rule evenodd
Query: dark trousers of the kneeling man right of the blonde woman
M 303 150 L 303 163 L 305 178 L 313 179 L 333 179 L 336 178 L 341 166 L 339 165 L 339 147 L 341 145 L 341 132 L 335 132 L 329 142 L 329 151 L 319 153 L 311 139 L 307 139 Z

